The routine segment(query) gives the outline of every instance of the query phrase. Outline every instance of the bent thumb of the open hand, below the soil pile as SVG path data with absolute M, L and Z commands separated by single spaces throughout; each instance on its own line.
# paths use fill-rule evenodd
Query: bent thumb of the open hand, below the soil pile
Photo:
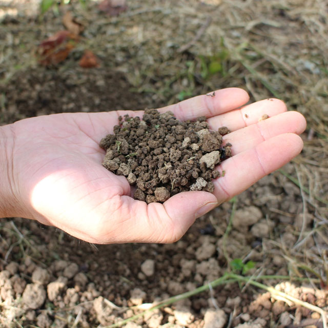
M 125 207 L 129 208 L 130 218 L 122 222 L 128 223 L 128 227 L 124 228 L 125 238 L 129 239 L 126 241 L 137 242 L 175 242 L 186 233 L 196 218 L 218 204 L 213 194 L 204 191 L 179 193 L 163 204 L 150 203 L 148 206 L 145 202 L 124 198 L 130 202 Z

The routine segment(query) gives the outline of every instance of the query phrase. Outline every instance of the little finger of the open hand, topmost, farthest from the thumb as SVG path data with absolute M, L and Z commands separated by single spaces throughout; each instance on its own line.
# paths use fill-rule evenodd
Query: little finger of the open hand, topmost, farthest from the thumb
M 227 88 L 210 92 L 162 107 L 160 112 L 172 111 L 179 120 L 194 119 L 199 116 L 212 117 L 238 108 L 249 100 L 246 91 L 239 88 Z

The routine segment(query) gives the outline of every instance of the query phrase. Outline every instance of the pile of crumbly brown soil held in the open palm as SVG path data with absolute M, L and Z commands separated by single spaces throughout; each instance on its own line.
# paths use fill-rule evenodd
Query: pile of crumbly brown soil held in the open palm
M 222 135 L 209 130 L 205 117 L 181 122 L 168 111 L 146 109 L 140 117 L 119 117 L 114 134 L 101 139 L 106 150 L 103 166 L 126 176 L 136 185 L 134 198 L 147 203 L 164 202 L 190 190 L 214 191 L 214 169 L 231 157 L 231 145 L 222 145 Z

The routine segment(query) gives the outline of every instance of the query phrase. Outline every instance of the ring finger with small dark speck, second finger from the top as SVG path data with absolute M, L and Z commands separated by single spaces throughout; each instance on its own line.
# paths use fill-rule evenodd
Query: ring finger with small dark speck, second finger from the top
M 264 99 L 240 109 L 211 117 L 208 119 L 208 122 L 212 130 L 217 131 L 220 127 L 228 127 L 230 131 L 235 131 L 256 124 L 264 114 L 272 117 L 286 110 L 286 105 L 283 101 L 279 99 Z

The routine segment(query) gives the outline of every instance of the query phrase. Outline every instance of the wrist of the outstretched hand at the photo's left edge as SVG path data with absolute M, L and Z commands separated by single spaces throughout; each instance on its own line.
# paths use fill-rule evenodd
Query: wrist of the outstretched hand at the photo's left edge
M 0 218 L 19 216 L 13 181 L 14 135 L 10 125 L 0 127 Z

